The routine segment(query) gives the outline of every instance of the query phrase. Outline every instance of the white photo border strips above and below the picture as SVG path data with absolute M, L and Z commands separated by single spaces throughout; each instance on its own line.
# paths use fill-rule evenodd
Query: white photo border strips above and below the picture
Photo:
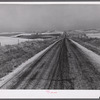
M 0 2 L 2 4 L 94 4 L 100 2 Z M 99 98 L 100 90 L 0 90 L 0 99 L 42 99 L 42 98 Z

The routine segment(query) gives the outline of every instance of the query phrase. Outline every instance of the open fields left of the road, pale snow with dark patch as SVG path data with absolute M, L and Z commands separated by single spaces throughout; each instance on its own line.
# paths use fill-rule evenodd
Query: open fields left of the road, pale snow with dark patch
M 5 33 L 0 34 L 0 45 L 14 45 L 25 41 L 44 41 L 44 39 L 52 39 L 59 37 L 60 34 L 25 34 L 25 33 Z

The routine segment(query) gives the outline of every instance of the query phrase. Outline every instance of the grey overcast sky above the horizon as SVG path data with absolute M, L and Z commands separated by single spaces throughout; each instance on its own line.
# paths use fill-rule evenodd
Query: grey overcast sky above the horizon
M 0 5 L 0 32 L 100 29 L 100 5 Z

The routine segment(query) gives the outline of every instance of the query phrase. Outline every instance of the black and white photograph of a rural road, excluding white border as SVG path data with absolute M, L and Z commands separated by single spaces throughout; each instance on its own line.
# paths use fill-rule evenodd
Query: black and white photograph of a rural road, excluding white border
M 0 89 L 100 90 L 100 4 L 0 4 Z

